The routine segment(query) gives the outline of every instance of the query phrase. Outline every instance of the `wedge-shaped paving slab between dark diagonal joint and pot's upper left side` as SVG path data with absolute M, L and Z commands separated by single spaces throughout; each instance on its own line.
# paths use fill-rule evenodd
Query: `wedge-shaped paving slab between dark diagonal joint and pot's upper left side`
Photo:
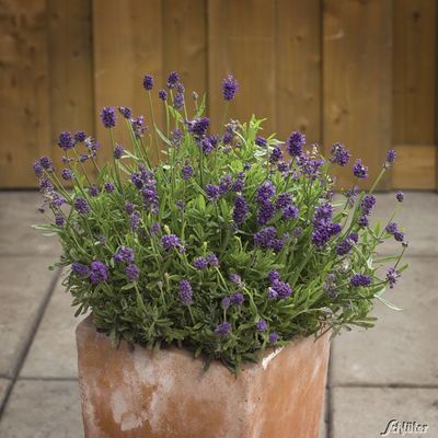
M 84 316 L 74 318 L 71 296 L 58 280 L 27 355 L 21 377 L 77 378 L 74 330 Z

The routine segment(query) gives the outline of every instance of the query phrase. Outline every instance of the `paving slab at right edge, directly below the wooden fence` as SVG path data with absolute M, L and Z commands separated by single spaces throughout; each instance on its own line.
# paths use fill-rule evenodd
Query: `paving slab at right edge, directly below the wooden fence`
M 385 226 L 396 205 L 394 193 L 378 194 L 372 217 L 381 218 Z M 394 221 L 406 234 L 407 255 L 438 255 L 438 194 L 405 193 L 405 200 L 399 204 Z M 382 254 L 392 254 L 399 252 L 400 243 L 390 240 L 379 247 Z

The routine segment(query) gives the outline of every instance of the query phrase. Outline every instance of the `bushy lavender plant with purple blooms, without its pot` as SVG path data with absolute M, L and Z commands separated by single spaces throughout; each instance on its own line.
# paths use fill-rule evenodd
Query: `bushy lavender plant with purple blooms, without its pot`
M 263 137 L 254 116 L 241 123 L 224 115 L 210 134 L 205 99 L 193 94 L 188 116 L 176 72 L 158 92 L 166 114 L 160 129 L 151 76 L 143 87 L 151 130 L 128 107 L 102 110 L 110 163 L 96 160 L 100 143 L 83 131 L 59 135 L 60 172 L 46 157 L 34 163 L 42 209 L 53 214 L 36 228 L 62 244 L 57 265 L 68 268 L 76 315 L 91 310 L 115 346 L 122 338 L 148 348 L 176 344 L 235 371 L 296 336 L 372 326 L 376 300 L 392 307 L 382 293 L 405 268 L 405 237 L 393 218 L 371 227 L 370 215 L 394 151 L 368 193 L 355 185 L 335 201 L 331 170 L 350 161 L 343 145 L 324 159 L 298 131 L 286 141 Z M 226 108 L 237 92 L 228 76 Z M 116 128 L 127 130 L 129 149 L 114 142 Z M 152 154 L 161 157 L 157 165 Z M 351 172 L 357 182 L 368 177 L 359 159 Z M 399 193 L 394 203 L 402 201 Z M 388 239 L 400 252 L 379 256 Z

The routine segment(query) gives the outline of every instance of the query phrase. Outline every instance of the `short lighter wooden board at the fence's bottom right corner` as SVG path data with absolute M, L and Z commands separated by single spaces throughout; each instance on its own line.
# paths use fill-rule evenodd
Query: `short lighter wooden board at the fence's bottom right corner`
M 392 186 L 397 188 L 436 188 L 436 145 L 396 145 L 397 159 L 392 170 Z

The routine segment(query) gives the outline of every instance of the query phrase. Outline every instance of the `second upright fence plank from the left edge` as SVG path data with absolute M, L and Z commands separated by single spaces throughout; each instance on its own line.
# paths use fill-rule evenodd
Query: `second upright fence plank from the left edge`
M 61 130 L 94 135 L 91 0 L 48 0 L 47 4 L 51 155 L 59 159 Z

